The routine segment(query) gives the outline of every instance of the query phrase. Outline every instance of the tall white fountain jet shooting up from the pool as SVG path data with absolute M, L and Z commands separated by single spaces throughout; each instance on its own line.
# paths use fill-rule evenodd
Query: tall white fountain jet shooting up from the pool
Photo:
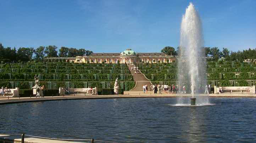
M 200 98 L 199 93 L 207 83 L 203 46 L 201 20 L 194 5 L 190 3 L 182 17 L 180 28 L 178 79 L 179 87 L 185 84 L 190 87 L 191 105 L 196 105 L 196 97 Z M 182 101 L 180 102 L 181 104 L 183 103 Z M 200 104 L 205 104 L 208 99 L 206 101 L 200 99 L 199 102 L 201 102 Z

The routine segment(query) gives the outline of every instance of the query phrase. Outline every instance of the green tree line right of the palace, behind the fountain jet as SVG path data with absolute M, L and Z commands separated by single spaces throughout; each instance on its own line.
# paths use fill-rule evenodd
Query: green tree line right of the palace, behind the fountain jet
M 227 48 L 222 48 L 222 51 L 218 47 L 203 47 L 205 50 L 205 56 L 211 57 L 210 61 L 217 61 L 220 58 L 225 58 L 227 61 L 244 61 L 245 59 L 256 59 L 256 48 L 255 49 L 248 49 L 243 51 L 229 51 Z M 166 46 L 161 50 L 161 52 L 172 55 L 178 56 L 179 55 L 179 47 L 175 50 L 171 46 Z

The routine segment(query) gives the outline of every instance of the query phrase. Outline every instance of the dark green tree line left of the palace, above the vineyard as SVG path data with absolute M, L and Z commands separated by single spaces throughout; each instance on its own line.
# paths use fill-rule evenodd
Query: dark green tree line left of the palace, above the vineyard
M 20 47 L 16 50 L 10 47 L 4 48 L 0 43 L 0 61 L 3 62 L 28 62 L 43 61 L 45 57 L 75 57 L 89 56 L 93 51 L 85 49 L 67 48 L 62 46 L 57 51 L 57 46 L 39 46 L 37 49 Z

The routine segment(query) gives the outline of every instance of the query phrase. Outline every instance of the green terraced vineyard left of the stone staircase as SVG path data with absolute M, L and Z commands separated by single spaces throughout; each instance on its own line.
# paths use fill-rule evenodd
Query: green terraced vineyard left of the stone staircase
M 0 86 L 31 89 L 34 76 L 47 89 L 113 88 L 118 77 L 119 87 L 125 91 L 135 86 L 126 64 L 85 64 L 67 62 L 13 63 L 0 66 Z

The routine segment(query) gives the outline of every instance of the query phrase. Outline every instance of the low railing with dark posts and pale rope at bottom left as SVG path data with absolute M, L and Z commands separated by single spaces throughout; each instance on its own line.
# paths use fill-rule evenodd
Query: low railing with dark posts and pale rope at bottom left
M 35 137 L 35 138 L 52 139 L 52 140 L 58 140 L 58 141 L 89 141 L 89 143 L 94 143 L 94 141 L 96 141 L 96 142 L 104 142 L 104 143 L 117 143 L 117 142 L 109 142 L 109 141 L 96 140 L 94 138 L 91 138 L 91 139 L 62 139 L 62 138 L 48 138 L 48 137 L 31 136 L 31 135 L 25 135 L 25 133 L 22 133 L 22 134 L 0 133 L 0 134 L 1 135 L 21 136 L 21 143 L 24 143 L 25 136 Z

